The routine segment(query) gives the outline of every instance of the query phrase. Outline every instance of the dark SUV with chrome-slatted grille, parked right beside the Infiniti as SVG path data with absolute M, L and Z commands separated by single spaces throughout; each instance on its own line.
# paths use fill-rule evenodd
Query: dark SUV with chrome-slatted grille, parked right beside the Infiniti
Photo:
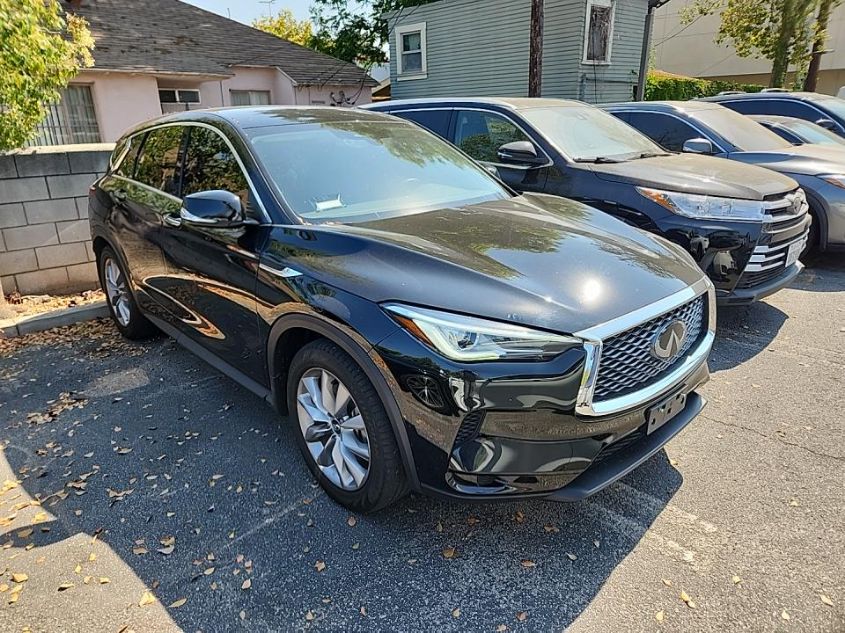
M 683 246 L 746 304 L 800 271 L 807 205 L 791 178 L 666 151 L 606 112 L 558 99 L 421 99 L 365 106 L 414 121 L 517 191 L 579 200 Z

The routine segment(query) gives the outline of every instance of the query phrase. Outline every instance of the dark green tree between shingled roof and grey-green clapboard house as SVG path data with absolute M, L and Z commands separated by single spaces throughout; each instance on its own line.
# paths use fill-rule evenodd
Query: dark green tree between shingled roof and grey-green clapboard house
M 390 31 L 390 19 L 385 18 L 385 13 L 401 15 L 432 1 L 314 0 L 311 15 L 317 32 L 313 48 L 364 68 L 383 64 L 387 61 Z

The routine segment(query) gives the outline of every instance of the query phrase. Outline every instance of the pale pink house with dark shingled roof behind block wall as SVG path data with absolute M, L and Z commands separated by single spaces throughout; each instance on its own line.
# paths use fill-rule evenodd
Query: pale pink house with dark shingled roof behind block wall
M 112 142 L 152 117 L 230 105 L 369 103 L 364 70 L 179 0 L 63 0 L 90 24 L 80 73 L 31 145 Z

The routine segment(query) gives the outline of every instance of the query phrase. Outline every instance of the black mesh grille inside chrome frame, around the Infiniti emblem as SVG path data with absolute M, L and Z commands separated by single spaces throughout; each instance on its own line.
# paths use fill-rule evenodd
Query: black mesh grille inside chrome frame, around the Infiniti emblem
M 683 362 L 707 333 L 707 295 L 696 297 L 650 321 L 617 334 L 602 345 L 593 401 L 608 400 L 642 389 Z M 684 322 L 687 337 L 680 352 L 664 360 L 651 353 L 654 337 L 675 320 Z

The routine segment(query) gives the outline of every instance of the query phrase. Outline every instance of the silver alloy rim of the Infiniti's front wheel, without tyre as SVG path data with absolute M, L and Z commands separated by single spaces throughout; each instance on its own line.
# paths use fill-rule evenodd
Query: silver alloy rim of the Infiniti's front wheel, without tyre
M 343 490 L 358 490 L 370 468 L 370 442 L 352 395 L 331 372 L 315 367 L 299 379 L 299 429 L 320 472 Z

